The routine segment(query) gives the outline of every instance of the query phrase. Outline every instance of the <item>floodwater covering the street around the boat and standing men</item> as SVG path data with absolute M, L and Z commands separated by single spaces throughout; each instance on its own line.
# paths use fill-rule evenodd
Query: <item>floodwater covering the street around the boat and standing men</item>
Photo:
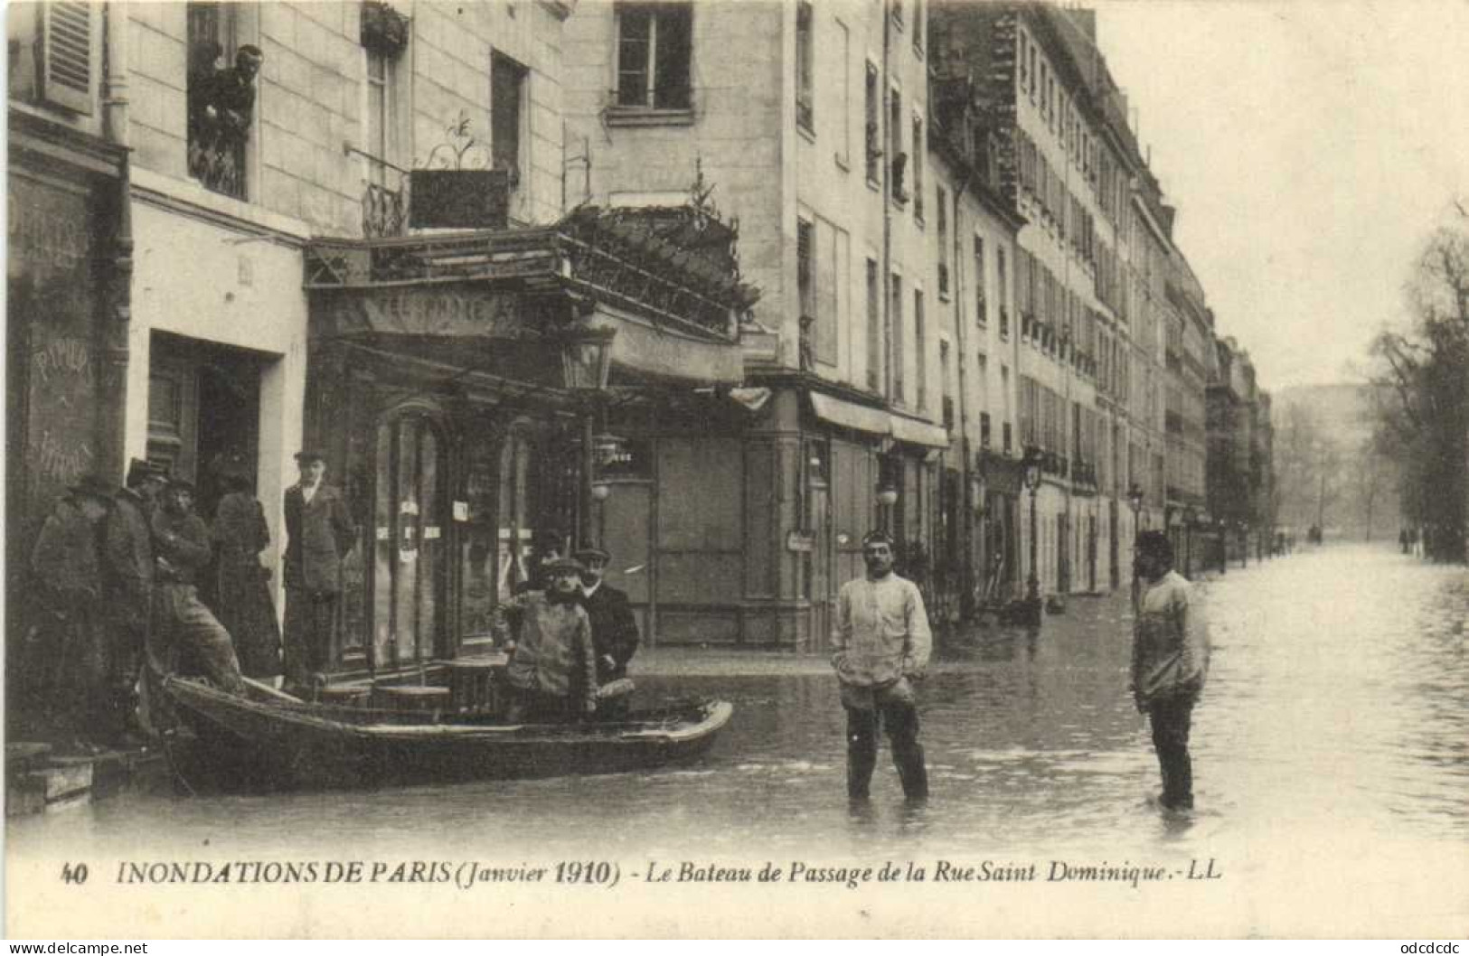
M 375 793 L 129 794 L 12 821 L 10 852 L 76 852 L 103 865 L 454 853 L 607 859 L 629 872 L 652 861 L 931 868 L 946 859 L 1034 863 L 1042 881 L 1052 861 L 1156 863 L 1184 880 L 1212 859 L 1222 888 L 1180 916 L 1191 933 L 1409 935 L 1445 922 L 1462 935 L 1463 568 L 1343 545 L 1234 565 L 1200 593 L 1213 661 L 1194 712 L 1197 811 L 1187 818 L 1150 803 L 1158 767 L 1127 693 L 1131 611 L 1125 598 L 1106 596 L 1072 599 L 1039 633 L 990 627 L 945 642 L 920 687 L 933 789 L 923 806 L 902 800 L 886 742 L 873 800 L 848 805 L 834 680 L 808 659 L 779 674 L 640 678 L 648 696 L 734 703 L 718 743 L 687 767 Z M 1140 893 L 1124 881 L 1119 906 L 1124 891 Z M 1005 925 L 1103 935 L 1174 928 L 1100 915 L 1030 919 L 1040 916 Z

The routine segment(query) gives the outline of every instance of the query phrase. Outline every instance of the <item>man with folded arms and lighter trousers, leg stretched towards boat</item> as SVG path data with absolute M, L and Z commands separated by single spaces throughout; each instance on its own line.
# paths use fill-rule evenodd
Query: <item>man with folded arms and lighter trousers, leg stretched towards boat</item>
M 209 529 L 194 514 L 194 483 L 172 479 L 163 489 L 163 504 L 153 513 L 154 554 L 154 617 L 148 633 L 150 677 L 170 674 L 179 655 L 214 684 L 232 693 L 244 693 L 239 659 L 229 631 L 198 599 L 197 582 L 214 557 Z M 150 703 L 153 700 L 150 693 Z M 154 728 L 162 730 L 159 714 L 150 714 Z

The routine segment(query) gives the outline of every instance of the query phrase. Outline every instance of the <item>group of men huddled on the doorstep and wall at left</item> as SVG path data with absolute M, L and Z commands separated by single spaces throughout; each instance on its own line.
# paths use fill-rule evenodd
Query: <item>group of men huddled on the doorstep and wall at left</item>
M 285 501 L 284 665 L 288 686 L 304 687 L 325 659 L 339 561 L 354 535 L 341 493 L 322 482 L 325 458 L 304 451 L 297 461 L 301 482 Z M 62 747 L 137 746 L 166 731 L 162 676 L 184 670 L 244 693 L 247 674 L 281 674 L 269 571 L 259 564 L 264 517 L 248 480 L 223 477 L 232 490 L 213 530 L 194 513 L 192 482 L 141 458 L 120 489 L 81 477 L 46 518 L 31 552 L 37 612 L 22 670 L 31 712 Z M 217 573 L 214 606 L 200 596 L 209 568 Z

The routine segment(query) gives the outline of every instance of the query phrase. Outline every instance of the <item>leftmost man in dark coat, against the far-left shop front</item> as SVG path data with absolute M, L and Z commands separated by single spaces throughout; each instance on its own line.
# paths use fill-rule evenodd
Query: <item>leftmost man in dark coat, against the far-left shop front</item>
M 28 670 L 59 743 L 81 752 L 103 743 L 107 639 L 101 614 L 101 529 L 112 485 L 85 476 L 68 488 L 31 551 L 40 621 Z

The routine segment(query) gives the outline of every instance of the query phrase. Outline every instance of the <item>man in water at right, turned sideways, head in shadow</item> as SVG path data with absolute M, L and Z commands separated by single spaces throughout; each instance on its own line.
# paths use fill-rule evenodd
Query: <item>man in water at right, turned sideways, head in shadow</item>
M 1166 811 L 1193 809 L 1188 727 L 1209 671 L 1209 634 L 1193 584 L 1174 570 L 1162 532 L 1137 536 L 1138 587 L 1133 623 L 1133 699 L 1153 725 Z

